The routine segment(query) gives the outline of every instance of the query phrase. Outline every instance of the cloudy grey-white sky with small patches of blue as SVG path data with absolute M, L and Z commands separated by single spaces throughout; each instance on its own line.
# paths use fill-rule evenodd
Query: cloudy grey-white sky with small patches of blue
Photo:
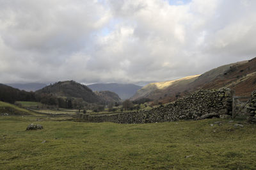
M 145 84 L 256 57 L 254 0 L 0 0 L 0 82 Z

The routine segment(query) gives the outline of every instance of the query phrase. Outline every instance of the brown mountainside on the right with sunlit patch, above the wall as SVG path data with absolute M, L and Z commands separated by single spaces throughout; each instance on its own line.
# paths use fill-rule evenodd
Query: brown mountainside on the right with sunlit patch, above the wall
M 165 103 L 198 89 L 223 87 L 234 89 L 237 96 L 249 96 L 256 89 L 256 58 L 223 65 L 202 75 L 151 83 L 138 90 L 131 99 L 150 98 Z

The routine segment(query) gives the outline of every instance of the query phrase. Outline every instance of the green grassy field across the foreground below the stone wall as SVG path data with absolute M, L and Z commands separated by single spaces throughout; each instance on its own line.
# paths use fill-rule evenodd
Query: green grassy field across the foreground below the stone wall
M 1 169 L 256 167 L 256 125 L 234 127 L 238 120 L 127 125 L 37 119 L 0 116 Z M 44 129 L 25 131 L 30 123 Z

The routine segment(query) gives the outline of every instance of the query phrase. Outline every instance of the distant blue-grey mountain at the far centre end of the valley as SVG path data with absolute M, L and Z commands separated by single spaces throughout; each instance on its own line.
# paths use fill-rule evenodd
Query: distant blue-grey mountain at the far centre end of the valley
M 118 83 L 102 83 L 102 84 L 90 84 L 88 88 L 93 91 L 113 91 L 122 100 L 132 97 L 138 91 L 138 89 L 142 88 L 142 86 L 138 86 L 135 84 L 118 84 Z

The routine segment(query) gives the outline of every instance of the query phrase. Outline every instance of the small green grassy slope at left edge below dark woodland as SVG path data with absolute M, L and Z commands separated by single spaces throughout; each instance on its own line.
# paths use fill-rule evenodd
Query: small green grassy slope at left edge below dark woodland
M 34 115 L 35 112 L 28 111 L 27 109 L 23 109 L 20 107 L 17 107 L 13 104 L 8 104 L 6 102 L 0 101 L 0 113 L 8 113 L 8 114 L 32 114 Z

